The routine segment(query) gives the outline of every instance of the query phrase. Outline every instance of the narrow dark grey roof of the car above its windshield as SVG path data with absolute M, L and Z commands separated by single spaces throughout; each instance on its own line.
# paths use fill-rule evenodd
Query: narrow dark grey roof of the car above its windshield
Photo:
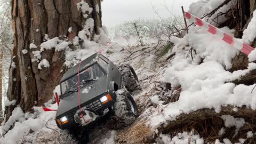
M 101 54 L 94 53 L 90 57 L 83 60 L 82 63 L 81 63 L 81 66 L 80 66 L 80 70 L 82 70 L 87 65 L 90 66 L 90 65 L 94 64 L 95 62 L 97 62 L 99 60 L 99 55 L 101 55 Z M 66 81 L 71 76 L 76 75 L 78 73 L 78 66 L 79 66 L 79 63 L 77 63 L 77 65 L 75 65 L 74 67 L 68 69 L 66 71 L 66 73 L 63 75 L 63 77 L 61 78 L 60 82 Z

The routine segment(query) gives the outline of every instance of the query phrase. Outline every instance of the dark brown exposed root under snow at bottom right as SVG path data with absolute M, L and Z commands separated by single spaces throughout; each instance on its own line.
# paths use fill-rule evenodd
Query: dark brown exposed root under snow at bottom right
M 219 135 L 219 131 L 222 127 L 225 127 L 221 115 L 231 115 L 234 117 L 242 117 L 245 119 L 246 124 L 236 133 L 235 127 L 225 128 L 225 133 Z M 195 131 L 205 142 L 214 142 L 216 139 L 228 138 L 232 142 L 238 142 L 240 138 L 246 139 L 246 133 L 248 131 L 256 132 L 256 111 L 250 108 L 239 108 L 237 112 L 233 111 L 233 107 L 222 107 L 220 113 L 216 113 L 214 109 L 201 109 L 194 111 L 190 114 L 181 114 L 177 117 L 176 121 L 166 122 L 161 126 L 158 126 L 158 133 L 170 134 L 174 137 L 179 132 L 183 131 Z M 153 143 L 155 138 L 152 135 L 148 135 L 144 143 Z M 255 141 L 255 138 L 248 139 L 248 141 Z

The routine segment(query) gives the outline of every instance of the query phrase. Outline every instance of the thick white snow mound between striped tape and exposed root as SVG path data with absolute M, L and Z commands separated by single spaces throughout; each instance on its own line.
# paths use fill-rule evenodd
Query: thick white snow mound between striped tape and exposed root
M 188 114 L 203 108 L 214 108 L 217 113 L 221 111 L 222 106 L 227 105 L 256 109 L 256 103 L 253 102 L 256 100 L 256 95 L 251 93 L 254 85 L 229 83 L 255 69 L 256 64 L 249 63 L 247 69 L 230 73 L 225 70 L 223 65 L 226 68 L 231 67 L 230 61 L 236 55 L 236 50 L 233 47 L 222 45 L 223 42 L 218 42 L 219 40 L 214 37 L 210 38 L 211 35 L 202 34 L 203 31 L 190 30 L 190 33 L 190 36 L 180 39 L 180 42 L 173 47 L 172 52 L 176 52 L 176 55 L 170 66 L 166 68 L 164 77 L 160 79 L 160 81 L 171 83 L 172 87 L 181 86 L 179 100 L 163 106 L 162 113 L 155 111 L 150 116 L 152 127 L 166 121 L 174 121 L 182 113 Z M 198 36 L 200 38 L 196 38 Z M 206 37 L 209 39 L 202 41 Z M 214 45 L 210 45 L 209 43 L 213 43 L 213 41 Z M 194 61 L 186 57 L 190 50 L 190 46 L 186 46 L 188 43 L 193 43 L 192 46 L 197 51 Z M 219 49 L 219 47 L 222 48 Z M 217 52 L 214 49 L 219 50 Z M 204 57 L 205 60 L 198 65 L 201 57 Z

